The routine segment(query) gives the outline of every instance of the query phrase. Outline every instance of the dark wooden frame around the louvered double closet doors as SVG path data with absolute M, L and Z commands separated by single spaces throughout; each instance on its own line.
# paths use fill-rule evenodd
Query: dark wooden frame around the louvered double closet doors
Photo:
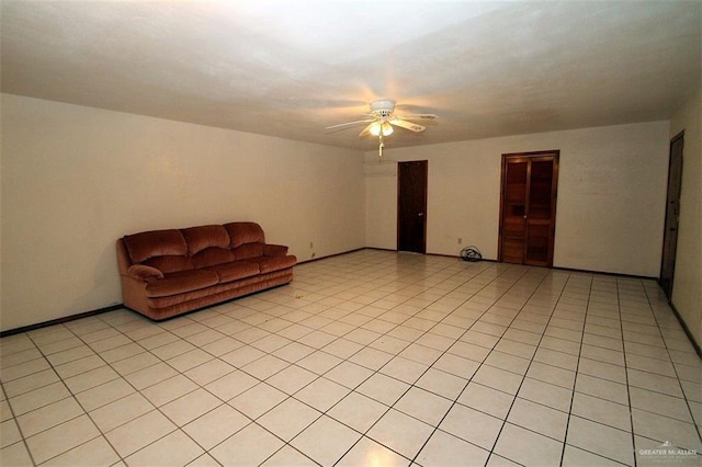
M 502 261 L 502 230 L 503 230 L 503 205 L 505 205 L 505 183 L 507 175 L 507 161 L 510 159 L 537 159 L 551 156 L 553 157 L 553 180 L 551 187 L 551 213 L 552 219 L 551 223 L 551 239 L 548 242 L 548 261 L 545 267 L 553 267 L 553 257 L 555 250 L 555 241 L 556 241 L 556 205 L 558 204 L 558 166 L 561 160 L 561 149 L 552 149 L 544 151 L 531 151 L 531 152 L 509 152 L 503 153 L 501 163 L 500 163 L 500 210 L 499 210 L 499 229 L 497 237 L 497 261 Z M 526 193 L 529 193 L 531 183 L 531 164 L 529 166 L 526 172 Z M 526 219 L 529 223 L 529 219 Z M 529 236 L 529 227 L 526 228 L 526 236 Z M 528 237 L 529 238 L 529 237 Z M 524 240 L 524 249 L 526 248 L 528 238 Z

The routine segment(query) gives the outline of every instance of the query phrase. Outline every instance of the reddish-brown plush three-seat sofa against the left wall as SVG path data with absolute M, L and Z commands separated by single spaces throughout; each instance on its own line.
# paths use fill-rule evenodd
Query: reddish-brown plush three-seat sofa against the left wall
M 152 230 L 117 240 L 122 299 L 154 320 L 293 280 L 297 259 L 256 223 Z

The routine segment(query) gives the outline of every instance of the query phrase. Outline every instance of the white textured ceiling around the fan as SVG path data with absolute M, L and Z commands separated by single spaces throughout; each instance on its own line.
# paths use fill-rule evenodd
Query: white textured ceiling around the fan
M 2 91 L 373 149 L 666 119 L 700 86 L 701 1 L 2 1 Z M 403 105 L 404 104 L 404 105 Z

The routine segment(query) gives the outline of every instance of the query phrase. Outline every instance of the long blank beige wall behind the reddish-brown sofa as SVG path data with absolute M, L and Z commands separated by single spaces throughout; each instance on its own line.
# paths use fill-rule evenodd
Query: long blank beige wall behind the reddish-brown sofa
M 254 220 L 301 261 L 364 246 L 361 152 L 10 94 L 1 112 L 2 330 L 121 303 L 125 234 Z

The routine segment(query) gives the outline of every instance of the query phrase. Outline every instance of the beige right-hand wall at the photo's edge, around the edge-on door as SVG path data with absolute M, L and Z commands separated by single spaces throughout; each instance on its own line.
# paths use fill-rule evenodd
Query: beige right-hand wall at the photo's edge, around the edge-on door
M 702 345 L 702 91 L 670 121 L 670 138 L 684 130 L 678 251 L 672 305 Z

